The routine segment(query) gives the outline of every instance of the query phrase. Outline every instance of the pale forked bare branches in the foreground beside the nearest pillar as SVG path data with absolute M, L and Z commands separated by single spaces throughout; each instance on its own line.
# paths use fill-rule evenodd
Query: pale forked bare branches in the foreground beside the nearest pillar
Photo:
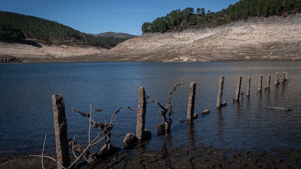
M 91 105 L 90 105 L 91 106 Z M 101 137 L 106 131 L 108 131 L 109 128 L 112 128 L 113 126 L 113 122 L 115 121 L 116 119 L 116 115 L 117 113 L 120 111 L 120 109 L 130 109 L 130 110 L 136 110 L 136 109 L 132 109 L 128 106 L 126 107 L 120 107 L 118 108 L 114 114 L 112 115 L 112 118 L 111 118 L 111 121 L 109 124 L 106 123 L 106 119 L 104 120 L 104 130 L 102 130 L 102 132 L 99 133 L 98 131 L 98 135 L 95 137 L 94 140 L 91 140 L 91 137 L 90 137 L 90 131 L 91 131 L 91 124 L 92 124 L 92 114 L 96 113 L 96 112 L 101 112 L 101 110 L 97 109 L 95 110 L 94 112 L 92 112 L 92 106 L 91 106 L 91 112 L 90 113 L 83 113 L 83 114 L 89 114 L 87 115 L 89 117 L 89 131 L 88 131 L 88 146 L 81 152 L 81 154 L 79 156 L 76 156 L 75 153 L 74 153 L 74 147 L 72 146 L 72 151 L 73 151 L 73 155 L 75 156 L 75 160 L 69 165 L 69 167 L 64 167 L 62 164 L 60 164 L 57 160 L 55 160 L 54 158 L 50 157 L 50 156 L 44 156 L 44 149 L 45 149 L 45 142 L 46 142 L 46 137 L 47 135 L 45 136 L 45 140 L 44 140 L 44 144 L 43 144 L 43 150 L 42 150 L 42 155 L 29 155 L 29 156 L 35 156 L 35 157 L 41 157 L 42 158 L 42 168 L 44 168 L 44 164 L 43 164 L 43 158 L 50 158 L 52 159 L 53 161 L 55 161 L 59 166 L 61 166 L 63 169 L 71 169 L 71 168 L 75 168 L 76 165 L 78 164 L 79 160 L 81 158 L 83 158 L 86 153 L 88 152 L 88 150 L 94 146 L 95 144 L 99 143 L 100 141 L 102 141 L 104 138 L 106 138 L 108 136 L 108 134 L 110 134 L 111 131 L 107 132 L 107 134 L 104 135 L 104 137 Z M 75 134 L 76 136 L 76 134 Z M 75 136 L 73 138 L 73 143 L 72 145 L 75 145 Z

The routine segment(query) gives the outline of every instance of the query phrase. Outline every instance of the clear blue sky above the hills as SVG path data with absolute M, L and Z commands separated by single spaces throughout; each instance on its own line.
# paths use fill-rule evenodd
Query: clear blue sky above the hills
M 141 35 L 141 25 L 176 9 L 216 12 L 238 0 L 0 0 L 0 11 L 55 20 L 85 33 L 123 32 Z

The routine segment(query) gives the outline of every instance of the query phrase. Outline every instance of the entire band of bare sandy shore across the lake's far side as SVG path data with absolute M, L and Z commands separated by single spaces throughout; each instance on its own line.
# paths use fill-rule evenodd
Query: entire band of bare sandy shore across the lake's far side
M 111 50 L 95 47 L 0 43 L 0 54 L 37 58 L 39 62 L 301 59 L 301 14 L 261 17 L 216 28 L 144 33 Z

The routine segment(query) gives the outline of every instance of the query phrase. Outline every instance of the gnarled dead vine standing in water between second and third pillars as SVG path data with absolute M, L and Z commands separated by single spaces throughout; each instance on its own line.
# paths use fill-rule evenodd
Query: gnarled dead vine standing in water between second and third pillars
M 158 105 L 160 106 L 161 110 L 159 112 L 161 112 L 161 116 L 163 118 L 163 122 L 165 123 L 165 130 L 167 133 L 170 133 L 170 128 L 171 128 L 171 124 L 172 124 L 171 115 L 173 115 L 177 112 L 177 109 L 175 109 L 174 112 L 172 111 L 173 102 L 172 103 L 170 102 L 170 95 L 172 94 L 172 92 L 174 92 L 176 90 L 176 87 L 178 85 L 184 85 L 184 82 L 182 81 L 182 83 L 175 84 L 174 87 L 169 91 L 168 98 L 167 98 L 167 105 L 165 107 L 162 106 L 157 100 L 147 101 L 147 103 L 157 102 Z M 159 112 L 157 113 L 158 121 L 160 120 Z M 166 117 L 166 115 L 167 115 L 167 117 Z

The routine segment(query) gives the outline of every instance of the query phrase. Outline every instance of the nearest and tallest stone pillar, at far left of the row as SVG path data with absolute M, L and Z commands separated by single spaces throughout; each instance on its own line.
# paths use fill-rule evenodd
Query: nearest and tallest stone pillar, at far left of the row
M 57 162 L 67 168 L 70 165 L 70 155 L 67 139 L 67 120 L 65 114 L 65 103 L 63 96 L 57 94 L 52 95 L 52 104 Z M 62 169 L 62 167 L 58 164 L 57 168 Z

